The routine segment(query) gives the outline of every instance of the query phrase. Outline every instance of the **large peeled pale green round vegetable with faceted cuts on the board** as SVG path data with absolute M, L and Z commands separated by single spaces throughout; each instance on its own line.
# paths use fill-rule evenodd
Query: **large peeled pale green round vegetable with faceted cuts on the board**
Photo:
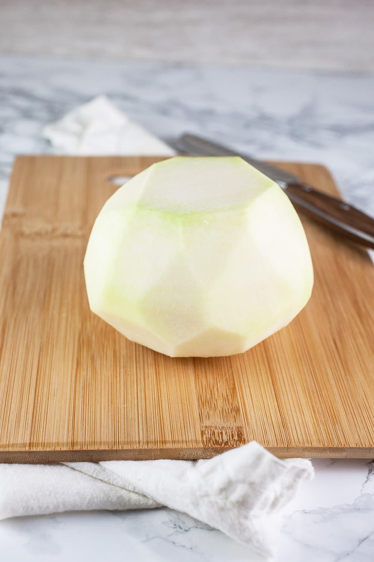
M 232 355 L 308 301 L 304 230 L 279 186 L 241 158 L 172 158 L 120 188 L 85 257 L 91 310 L 171 356 Z

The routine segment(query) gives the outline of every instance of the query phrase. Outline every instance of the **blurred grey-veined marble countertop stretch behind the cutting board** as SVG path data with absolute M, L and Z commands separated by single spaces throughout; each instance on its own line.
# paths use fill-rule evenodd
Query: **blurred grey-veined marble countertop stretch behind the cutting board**
M 51 152 L 44 124 L 106 93 L 160 137 L 190 130 L 260 158 L 321 162 L 374 214 L 374 76 L 189 65 L 0 59 L 0 179 Z

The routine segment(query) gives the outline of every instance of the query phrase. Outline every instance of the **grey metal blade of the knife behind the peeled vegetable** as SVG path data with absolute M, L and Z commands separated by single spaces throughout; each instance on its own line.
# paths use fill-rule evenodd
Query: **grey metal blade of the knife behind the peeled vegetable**
M 258 171 L 265 174 L 268 178 L 271 178 L 276 183 L 288 184 L 288 183 L 299 183 L 300 179 L 297 175 L 286 172 L 277 166 L 267 164 L 261 160 L 256 160 L 256 158 L 251 158 L 245 154 L 240 154 L 230 148 L 221 146 L 211 142 L 210 140 L 203 139 L 201 137 L 196 137 L 186 133 L 180 137 L 181 146 L 187 149 L 188 152 L 197 152 L 199 155 L 204 156 L 240 156 L 251 164 L 253 167 L 257 168 Z M 178 143 L 179 146 L 179 143 Z M 283 187 L 283 185 L 281 186 Z

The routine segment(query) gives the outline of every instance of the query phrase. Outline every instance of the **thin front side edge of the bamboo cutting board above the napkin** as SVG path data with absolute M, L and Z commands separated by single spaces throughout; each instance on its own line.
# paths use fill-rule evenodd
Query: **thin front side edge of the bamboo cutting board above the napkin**
M 109 460 L 211 459 L 232 447 L 142 448 L 81 451 L 0 451 L 0 464 L 98 463 Z M 374 447 L 266 447 L 279 459 L 373 459 Z

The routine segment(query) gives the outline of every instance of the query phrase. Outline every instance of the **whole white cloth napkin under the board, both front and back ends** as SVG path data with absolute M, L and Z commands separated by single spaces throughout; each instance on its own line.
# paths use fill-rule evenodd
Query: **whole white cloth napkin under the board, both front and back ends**
M 100 96 L 48 125 L 44 135 L 72 154 L 174 152 Z M 271 555 L 280 509 L 313 476 L 308 460 L 280 460 L 255 442 L 209 460 L 0 464 L 0 519 L 91 509 L 168 506 Z

